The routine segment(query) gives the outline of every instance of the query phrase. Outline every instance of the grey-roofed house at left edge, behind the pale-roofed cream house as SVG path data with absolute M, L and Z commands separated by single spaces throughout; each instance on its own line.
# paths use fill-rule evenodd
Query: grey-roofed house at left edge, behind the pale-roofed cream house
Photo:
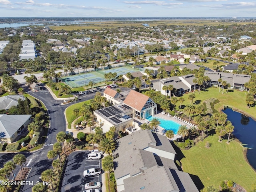
M 12 106 L 17 106 L 19 99 L 25 100 L 25 97 L 21 95 L 8 95 L 0 97 L 0 109 L 8 110 Z

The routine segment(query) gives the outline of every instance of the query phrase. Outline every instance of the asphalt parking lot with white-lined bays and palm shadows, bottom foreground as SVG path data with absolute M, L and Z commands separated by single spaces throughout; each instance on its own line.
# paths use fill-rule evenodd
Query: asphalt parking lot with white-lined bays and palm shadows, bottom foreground
M 88 153 L 90 153 L 88 150 L 76 151 L 68 156 L 61 183 L 61 192 L 83 192 L 85 190 L 84 185 L 88 182 L 99 181 L 102 183 L 101 174 L 88 178 L 83 175 L 84 170 L 101 168 L 101 159 L 88 160 Z M 100 191 L 102 191 L 101 188 Z

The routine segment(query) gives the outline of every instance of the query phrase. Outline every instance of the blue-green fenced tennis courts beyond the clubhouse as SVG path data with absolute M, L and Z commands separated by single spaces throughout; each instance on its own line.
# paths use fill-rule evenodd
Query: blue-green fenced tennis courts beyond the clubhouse
M 117 73 L 117 76 L 126 74 L 128 72 L 137 72 L 139 70 L 136 70 L 134 68 L 130 67 L 119 67 L 119 68 L 112 68 L 107 70 L 98 70 L 88 73 L 80 73 L 78 75 L 72 75 L 68 77 L 62 78 L 62 82 L 65 82 L 72 88 L 86 86 L 90 81 L 96 83 L 104 82 L 104 74 L 107 74 L 109 72 L 111 73 Z

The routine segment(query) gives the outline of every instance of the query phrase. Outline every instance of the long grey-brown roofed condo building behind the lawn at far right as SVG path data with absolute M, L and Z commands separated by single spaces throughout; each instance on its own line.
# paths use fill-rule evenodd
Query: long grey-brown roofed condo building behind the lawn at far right
M 251 76 L 245 74 L 232 74 L 232 73 L 224 73 L 224 72 L 210 72 L 205 71 L 204 76 L 208 76 L 210 78 L 210 86 L 218 87 L 222 85 L 218 82 L 221 78 L 222 81 L 226 81 L 230 84 L 230 89 L 238 89 L 240 91 L 246 90 L 244 84 L 249 82 Z

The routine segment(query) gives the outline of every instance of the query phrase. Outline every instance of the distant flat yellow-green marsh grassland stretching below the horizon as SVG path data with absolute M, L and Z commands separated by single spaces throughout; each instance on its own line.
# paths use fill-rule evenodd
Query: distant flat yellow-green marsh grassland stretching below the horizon
M 84 22 L 80 25 L 69 25 L 69 26 L 50 26 L 52 30 L 82 30 L 82 29 L 102 29 L 102 28 L 116 28 L 116 27 L 127 27 L 127 26 L 141 26 L 145 21 L 97 21 L 97 22 Z M 218 25 L 231 25 L 238 24 L 244 25 L 249 22 L 216 22 L 216 20 L 152 20 L 146 21 L 151 27 L 158 25 L 196 25 L 196 26 L 218 26 Z

